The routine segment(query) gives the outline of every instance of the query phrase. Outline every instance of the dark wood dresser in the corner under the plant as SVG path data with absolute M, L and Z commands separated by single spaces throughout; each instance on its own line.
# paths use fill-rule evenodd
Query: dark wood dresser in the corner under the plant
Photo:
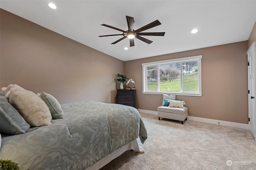
M 126 106 L 135 107 L 135 89 L 131 90 L 117 90 L 116 104 L 123 104 Z

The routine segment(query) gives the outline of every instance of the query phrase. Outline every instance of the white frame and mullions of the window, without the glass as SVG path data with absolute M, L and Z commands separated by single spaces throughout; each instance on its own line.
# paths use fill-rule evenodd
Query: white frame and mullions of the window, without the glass
M 184 57 L 179 59 L 170 59 L 164 61 L 155 61 L 150 63 L 142 63 L 142 94 L 176 94 L 178 96 L 202 96 L 202 70 L 201 70 L 201 59 L 202 55 L 192 56 L 192 57 Z M 185 63 L 185 62 L 198 62 L 198 92 L 160 92 L 159 86 L 159 65 L 167 64 L 167 63 Z M 158 90 L 157 91 L 147 91 L 147 67 L 157 65 L 158 67 Z M 182 73 L 181 73 L 182 74 Z M 181 79 L 182 81 L 182 79 Z M 181 83 L 182 84 L 182 83 Z M 182 86 L 181 86 L 182 88 Z

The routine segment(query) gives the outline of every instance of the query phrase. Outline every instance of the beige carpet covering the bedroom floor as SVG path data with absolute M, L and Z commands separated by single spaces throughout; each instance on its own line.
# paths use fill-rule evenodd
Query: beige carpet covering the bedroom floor
M 141 116 L 148 131 L 144 145 L 139 143 L 145 152 L 128 150 L 100 170 L 256 170 L 249 130 Z

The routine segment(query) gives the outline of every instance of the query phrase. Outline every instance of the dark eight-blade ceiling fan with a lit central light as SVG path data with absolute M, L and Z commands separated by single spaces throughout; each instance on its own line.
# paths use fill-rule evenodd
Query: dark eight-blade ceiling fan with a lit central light
M 126 20 L 127 20 L 127 24 L 128 24 L 128 30 L 127 31 L 124 31 L 122 29 L 118 29 L 116 27 L 112 27 L 110 25 L 101 24 L 101 25 L 103 25 L 105 27 L 116 29 L 116 30 L 121 31 L 123 33 L 122 34 L 113 34 L 113 35 L 100 35 L 99 37 L 123 35 L 122 38 L 118 39 L 117 41 L 115 41 L 114 43 L 111 43 L 111 44 L 116 44 L 116 43 L 118 43 L 119 41 L 121 41 L 121 40 L 123 40 L 125 38 L 129 38 L 130 39 L 130 47 L 133 47 L 134 46 L 134 38 L 138 38 L 141 41 L 144 41 L 145 43 L 148 43 L 148 44 L 153 42 L 153 41 L 150 41 L 149 39 L 141 37 L 140 35 L 164 36 L 165 32 L 142 33 L 142 31 L 145 31 L 146 29 L 150 29 L 150 28 L 156 27 L 158 25 L 161 25 L 161 23 L 158 20 L 153 21 L 152 23 L 149 23 L 148 25 L 145 25 L 145 26 L 143 26 L 143 27 L 141 27 L 139 29 L 136 29 L 136 30 L 133 29 L 134 18 L 126 16 Z

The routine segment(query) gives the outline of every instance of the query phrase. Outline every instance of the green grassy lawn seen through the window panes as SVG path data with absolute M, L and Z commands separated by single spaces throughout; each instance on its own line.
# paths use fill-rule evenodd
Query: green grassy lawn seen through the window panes
M 151 82 L 151 85 L 149 84 Z M 157 81 L 148 81 L 148 91 L 157 91 Z M 183 75 L 183 92 L 198 91 L 198 74 L 192 72 Z M 180 92 L 180 77 L 173 81 L 161 81 L 160 92 Z

